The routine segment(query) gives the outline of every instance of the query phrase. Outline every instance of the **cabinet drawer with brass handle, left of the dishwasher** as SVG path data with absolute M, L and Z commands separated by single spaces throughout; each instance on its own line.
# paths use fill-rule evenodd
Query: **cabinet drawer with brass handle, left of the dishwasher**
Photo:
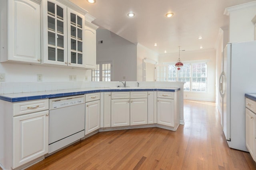
M 13 104 L 13 115 L 24 115 L 49 109 L 49 100 L 34 100 L 29 102 L 16 102 Z

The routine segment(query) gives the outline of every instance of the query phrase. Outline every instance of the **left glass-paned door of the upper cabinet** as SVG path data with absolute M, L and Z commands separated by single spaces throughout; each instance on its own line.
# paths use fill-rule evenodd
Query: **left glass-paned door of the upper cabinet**
M 44 1 L 44 17 L 44 63 L 67 65 L 67 7 Z

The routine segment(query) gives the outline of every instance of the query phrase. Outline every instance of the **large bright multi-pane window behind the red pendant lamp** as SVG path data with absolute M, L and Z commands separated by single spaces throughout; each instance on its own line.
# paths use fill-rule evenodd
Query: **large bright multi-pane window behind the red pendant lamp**
M 206 92 L 207 64 L 186 63 L 177 70 L 174 64 L 156 66 L 157 81 L 182 81 L 184 91 Z

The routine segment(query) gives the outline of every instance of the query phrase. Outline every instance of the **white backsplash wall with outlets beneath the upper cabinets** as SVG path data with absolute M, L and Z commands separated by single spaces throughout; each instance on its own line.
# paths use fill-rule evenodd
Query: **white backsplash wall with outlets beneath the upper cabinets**
M 0 94 L 85 88 L 91 80 L 90 70 L 41 64 L 0 63 L 0 73 L 6 79 L 0 82 Z M 42 74 L 42 82 L 37 74 Z M 76 81 L 70 81 L 69 75 L 76 75 Z

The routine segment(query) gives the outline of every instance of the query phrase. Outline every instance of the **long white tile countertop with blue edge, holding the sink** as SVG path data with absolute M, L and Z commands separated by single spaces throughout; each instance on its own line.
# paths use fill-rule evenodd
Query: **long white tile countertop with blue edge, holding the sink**
M 43 92 L 28 92 L 28 93 L 12 93 L 0 94 L 0 100 L 8 102 L 21 102 L 26 100 L 38 100 L 44 98 L 66 97 L 79 94 L 95 93 L 95 92 L 130 92 L 130 91 L 166 91 L 176 92 L 180 88 L 166 88 L 166 87 L 107 87 L 107 88 L 78 88 L 69 90 L 53 90 Z

